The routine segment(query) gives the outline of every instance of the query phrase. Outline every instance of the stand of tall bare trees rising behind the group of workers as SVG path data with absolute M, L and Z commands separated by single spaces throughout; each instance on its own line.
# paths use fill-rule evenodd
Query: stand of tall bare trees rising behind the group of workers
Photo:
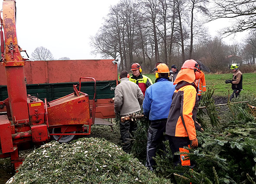
M 205 49 L 220 43 L 216 40 L 207 44 L 212 38 L 207 36 L 208 31 L 199 19 L 202 12 L 207 12 L 207 2 L 120 0 L 110 7 L 102 27 L 91 38 L 93 53 L 103 57 L 120 56 L 119 70 L 128 70 L 131 62 L 142 64 L 144 71 L 151 71 L 158 61 L 181 66 L 184 60 L 192 57 L 192 53 L 197 58 L 207 58 L 209 63 L 218 63 L 220 58 L 223 61 L 225 52 L 222 51 L 219 57 Z M 201 48 L 197 44 L 203 40 L 205 44 Z M 193 51 L 194 45 L 197 46 L 196 52 Z

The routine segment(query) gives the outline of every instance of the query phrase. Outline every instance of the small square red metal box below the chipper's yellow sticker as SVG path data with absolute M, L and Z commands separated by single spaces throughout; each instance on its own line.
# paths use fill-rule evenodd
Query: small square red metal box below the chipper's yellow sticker
M 31 126 L 32 140 L 34 143 L 43 142 L 49 139 L 46 124 L 39 124 Z

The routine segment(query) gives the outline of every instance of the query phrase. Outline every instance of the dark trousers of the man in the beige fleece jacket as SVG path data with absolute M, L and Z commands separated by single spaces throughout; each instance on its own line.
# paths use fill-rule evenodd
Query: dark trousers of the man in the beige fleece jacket
M 122 149 L 125 152 L 131 152 L 131 136 L 134 136 L 135 130 L 137 130 L 136 121 L 120 121 L 120 134 L 121 134 L 121 142 Z

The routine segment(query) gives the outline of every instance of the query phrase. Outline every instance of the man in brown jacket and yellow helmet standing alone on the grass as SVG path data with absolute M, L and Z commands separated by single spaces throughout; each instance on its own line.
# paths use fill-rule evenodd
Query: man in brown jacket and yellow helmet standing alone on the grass
M 230 67 L 230 69 L 233 71 L 233 78 L 232 80 L 227 79 L 225 81 L 226 84 L 231 83 L 233 93 L 230 96 L 230 101 L 232 98 L 236 98 L 239 96 L 240 92 L 243 90 L 242 82 L 243 82 L 243 73 L 239 70 L 239 65 L 237 63 L 233 63 Z

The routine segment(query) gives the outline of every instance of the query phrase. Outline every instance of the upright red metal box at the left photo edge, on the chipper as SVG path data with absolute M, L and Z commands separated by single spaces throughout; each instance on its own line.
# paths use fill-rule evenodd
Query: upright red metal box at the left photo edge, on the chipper
M 0 140 L 3 153 L 13 152 L 11 124 L 7 115 L 0 116 Z

